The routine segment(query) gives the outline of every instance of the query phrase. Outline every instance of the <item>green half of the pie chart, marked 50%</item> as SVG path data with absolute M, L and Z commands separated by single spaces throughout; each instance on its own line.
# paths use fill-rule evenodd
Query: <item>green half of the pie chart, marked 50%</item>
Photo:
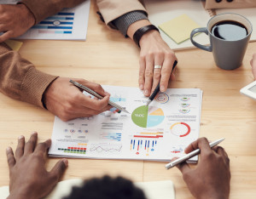
M 148 121 L 148 106 L 143 105 L 134 110 L 131 114 L 131 119 L 137 126 L 146 128 Z

